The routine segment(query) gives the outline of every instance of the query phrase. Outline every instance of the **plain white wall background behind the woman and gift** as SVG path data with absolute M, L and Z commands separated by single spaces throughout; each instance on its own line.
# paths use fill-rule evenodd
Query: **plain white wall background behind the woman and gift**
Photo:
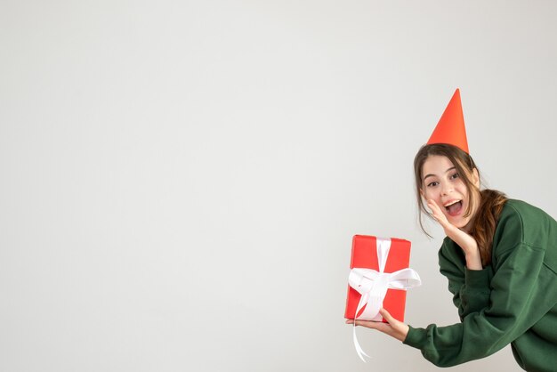
M 432 371 L 343 311 L 353 234 L 413 242 L 456 87 L 488 186 L 557 215 L 552 1 L 0 0 L 0 370 Z M 455 371 L 518 371 L 510 348 Z

